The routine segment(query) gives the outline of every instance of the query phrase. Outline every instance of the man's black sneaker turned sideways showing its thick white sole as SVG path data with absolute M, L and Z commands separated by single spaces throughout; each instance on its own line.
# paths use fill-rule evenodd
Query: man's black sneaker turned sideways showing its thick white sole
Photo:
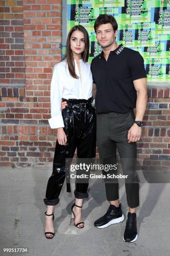
M 96 228 L 106 228 L 112 224 L 120 223 L 124 219 L 121 204 L 118 207 L 115 207 L 115 205 L 110 205 L 105 215 L 96 220 L 94 225 Z

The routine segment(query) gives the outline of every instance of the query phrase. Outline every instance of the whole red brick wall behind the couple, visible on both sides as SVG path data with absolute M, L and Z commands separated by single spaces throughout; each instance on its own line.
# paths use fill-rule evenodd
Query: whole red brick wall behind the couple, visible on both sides
M 0 10 L 0 166 L 51 166 L 57 133 L 47 119 L 52 67 L 61 59 L 61 0 L 0 0 Z M 169 88 L 148 87 L 141 162 L 170 160 L 169 97 Z

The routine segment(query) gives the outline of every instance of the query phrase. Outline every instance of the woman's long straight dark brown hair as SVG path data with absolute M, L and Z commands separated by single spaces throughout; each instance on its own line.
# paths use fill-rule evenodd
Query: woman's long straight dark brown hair
M 71 38 L 71 35 L 74 31 L 76 30 L 79 30 L 81 31 L 83 34 L 84 34 L 84 38 L 85 38 L 85 50 L 82 52 L 82 59 L 84 62 L 87 62 L 88 61 L 88 57 L 89 57 L 89 46 L 90 46 L 90 42 L 89 42 L 89 35 L 88 35 L 88 32 L 87 30 L 81 26 L 81 25 L 76 25 L 74 26 L 70 32 L 68 33 L 68 36 L 67 36 L 67 43 L 66 43 L 66 54 L 64 56 L 64 58 L 61 60 L 65 60 L 67 59 L 67 64 L 68 64 L 68 70 L 70 72 L 70 75 L 73 77 L 73 78 L 76 78 L 78 79 L 79 77 L 76 75 L 75 73 L 75 62 L 74 62 L 74 58 L 73 58 L 73 54 L 72 54 L 72 50 L 70 48 L 70 38 Z M 60 62 L 60 61 L 59 61 Z

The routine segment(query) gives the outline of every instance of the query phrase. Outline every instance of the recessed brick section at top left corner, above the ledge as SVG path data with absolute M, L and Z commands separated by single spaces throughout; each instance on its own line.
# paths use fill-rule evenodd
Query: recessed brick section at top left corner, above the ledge
M 0 1 L 0 84 L 25 84 L 22 1 Z

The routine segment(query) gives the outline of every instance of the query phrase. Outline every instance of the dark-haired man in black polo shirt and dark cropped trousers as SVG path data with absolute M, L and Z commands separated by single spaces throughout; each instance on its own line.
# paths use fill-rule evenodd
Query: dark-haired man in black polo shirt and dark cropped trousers
M 136 207 L 139 205 L 136 142 L 140 140 L 147 106 L 147 76 L 139 52 L 116 43 L 117 22 L 112 15 L 99 15 L 94 29 L 97 42 L 102 47 L 102 52 L 91 63 L 93 83 L 97 89 L 95 107 L 100 164 L 115 163 L 117 148 L 123 174 L 128 174 L 125 189 L 129 212 L 123 240 L 134 242 L 138 238 Z M 133 108 L 136 108 L 136 115 Z M 105 179 L 105 189 L 110 206 L 105 215 L 95 221 L 97 228 L 124 220 L 118 202 L 118 182 Z

